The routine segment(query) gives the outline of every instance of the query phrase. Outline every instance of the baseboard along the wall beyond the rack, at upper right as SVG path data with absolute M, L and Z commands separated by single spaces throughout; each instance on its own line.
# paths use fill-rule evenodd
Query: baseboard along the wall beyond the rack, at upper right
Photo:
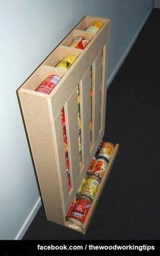
M 127 57 L 127 54 L 129 53 L 129 51 L 131 50 L 132 46 L 134 45 L 134 42 L 136 41 L 142 27 L 144 26 L 146 20 L 148 19 L 148 16 L 150 16 L 151 12 L 153 10 L 153 7 L 151 8 L 151 10 L 149 10 L 148 14 L 146 14 L 144 20 L 142 21 L 140 27 L 138 28 L 138 30 L 136 31 L 136 34 L 134 35 L 132 41 L 130 42 L 129 46 L 127 46 L 127 49 L 125 50 L 123 56 L 121 57 L 119 63 L 117 64 L 117 66 L 115 67 L 113 73 L 111 74 L 111 76 L 108 78 L 108 82 L 107 82 L 107 86 L 109 86 L 111 84 L 111 82 L 113 81 L 113 78 L 115 78 L 115 75 L 117 74 L 117 72 L 119 71 L 119 68 L 121 67 L 121 65 L 123 64 L 123 61 L 125 60 L 125 58 Z

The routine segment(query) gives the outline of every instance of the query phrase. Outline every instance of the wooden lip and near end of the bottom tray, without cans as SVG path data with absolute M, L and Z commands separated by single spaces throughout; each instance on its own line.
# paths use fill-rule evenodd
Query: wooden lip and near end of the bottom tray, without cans
M 68 228 L 71 228 L 71 229 L 74 229 L 75 231 L 79 231 L 81 232 L 82 234 L 85 234 L 85 232 L 87 231 L 87 227 L 89 225 L 89 222 L 91 221 L 92 219 L 92 215 L 94 214 L 94 210 L 96 208 L 96 205 L 98 203 L 98 200 L 100 198 L 100 195 L 103 191 L 103 188 L 104 188 L 104 185 L 106 183 L 106 180 L 108 178 L 108 175 L 109 173 L 111 172 L 111 168 L 113 166 L 113 163 L 115 161 L 115 158 L 117 156 L 117 153 L 118 153 L 118 150 L 119 150 L 119 144 L 116 144 L 115 145 L 115 149 L 113 150 L 113 154 L 111 155 L 111 159 L 106 167 L 106 172 L 104 173 L 104 176 L 100 182 L 100 185 L 98 187 L 98 190 L 96 192 L 96 196 L 94 197 L 94 201 L 92 202 L 92 205 L 91 207 L 89 208 L 89 212 L 87 214 L 87 217 L 85 219 L 85 222 L 83 223 L 82 227 L 79 227 L 77 225 L 74 225 L 73 223 L 71 223 L 70 221 L 66 221 L 64 226 L 65 227 L 68 227 Z

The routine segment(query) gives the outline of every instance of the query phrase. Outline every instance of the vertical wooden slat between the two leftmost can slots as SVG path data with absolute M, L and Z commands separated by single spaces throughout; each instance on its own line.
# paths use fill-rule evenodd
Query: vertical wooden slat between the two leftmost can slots
M 79 177 L 79 128 L 77 119 L 77 89 L 64 104 L 66 121 L 66 138 L 68 143 L 68 159 L 71 184 L 74 187 Z

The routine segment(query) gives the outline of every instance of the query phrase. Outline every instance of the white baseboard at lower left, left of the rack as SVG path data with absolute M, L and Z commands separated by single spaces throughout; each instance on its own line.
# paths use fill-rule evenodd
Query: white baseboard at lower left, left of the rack
M 18 231 L 18 234 L 16 235 L 16 238 L 14 240 L 21 240 L 24 234 L 26 233 L 26 230 L 31 225 L 31 222 L 35 218 L 35 215 L 37 214 L 39 208 L 41 206 L 41 197 L 37 199 L 37 202 L 35 203 L 35 206 L 33 206 L 33 209 L 31 210 L 30 214 L 28 214 L 28 217 L 26 218 L 26 221 L 24 221 L 22 227 Z

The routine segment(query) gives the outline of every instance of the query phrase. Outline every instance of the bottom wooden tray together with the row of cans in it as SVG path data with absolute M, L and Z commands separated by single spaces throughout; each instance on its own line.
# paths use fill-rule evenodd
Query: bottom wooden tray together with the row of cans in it
M 66 213 L 66 227 L 85 234 L 118 148 L 118 144 L 114 146 L 111 142 L 101 142 L 79 186 L 77 195 Z

